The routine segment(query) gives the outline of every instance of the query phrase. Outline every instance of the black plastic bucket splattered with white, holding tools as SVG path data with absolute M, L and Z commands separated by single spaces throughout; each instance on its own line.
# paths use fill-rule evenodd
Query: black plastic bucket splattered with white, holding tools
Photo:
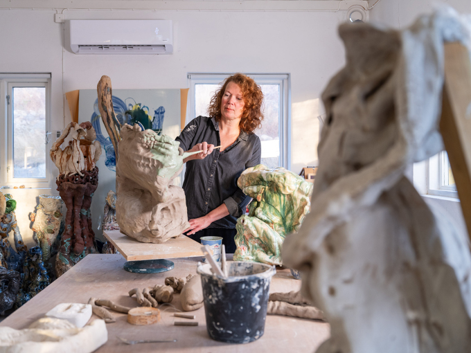
M 258 262 L 227 262 L 229 278 L 198 264 L 206 312 L 206 329 L 213 340 L 249 343 L 263 336 L 270 281 L 275 266 Z

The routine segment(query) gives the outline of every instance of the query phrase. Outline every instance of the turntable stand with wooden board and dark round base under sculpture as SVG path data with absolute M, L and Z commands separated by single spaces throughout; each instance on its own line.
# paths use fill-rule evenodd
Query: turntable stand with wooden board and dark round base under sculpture
M 201 244 L 180 235 L 161 244 L 142 243 L 119 230 L 105 230 L 106 239 L 125 257 L 124 269 L 134 273 L 159 273 L 174 268 L 166 258 L 202 256 Z

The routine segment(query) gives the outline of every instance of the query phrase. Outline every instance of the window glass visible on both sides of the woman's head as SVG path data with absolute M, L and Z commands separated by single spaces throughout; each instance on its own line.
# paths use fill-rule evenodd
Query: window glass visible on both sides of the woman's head
M 219 84 L 195 84 L 195 116 L 208 116 L 208 105 Z M 280 84 L 260 84 L 264 96 L 262 127 L 255 134 L 262 145 L 262 161 L 277 168 L 280 161 Z

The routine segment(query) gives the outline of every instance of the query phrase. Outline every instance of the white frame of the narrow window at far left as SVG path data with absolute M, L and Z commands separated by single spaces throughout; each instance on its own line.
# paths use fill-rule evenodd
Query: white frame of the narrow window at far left
M 44 87 L 46 135 L 44 149 L 46 152 L 45 178 L 15 178 L 13 177 L 13 87 Z M 9 96 L 9 104 L 7 96 Z M 48 158 L 51 149 L 51 74 L 50 73 L 0 73 L 0 186 L 25 185 L 28 188 L 50 188 L 51 187 L 51 159 Z

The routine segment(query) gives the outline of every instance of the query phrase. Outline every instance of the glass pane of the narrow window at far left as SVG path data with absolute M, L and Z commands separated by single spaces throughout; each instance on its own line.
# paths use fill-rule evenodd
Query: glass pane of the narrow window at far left
M 46 88 L 13 87 L 13 177 L 46 178 Z

